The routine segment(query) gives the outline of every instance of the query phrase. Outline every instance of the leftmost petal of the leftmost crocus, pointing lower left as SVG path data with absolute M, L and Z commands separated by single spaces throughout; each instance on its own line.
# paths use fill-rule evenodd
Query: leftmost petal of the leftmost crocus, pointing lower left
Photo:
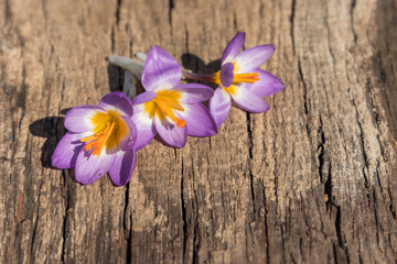
M 82 133 L 67 132 L 57 144 L 52 156 L 52 165 L 57 168 L 71 168 L 76 164 L 76 158 L 84 145 Z

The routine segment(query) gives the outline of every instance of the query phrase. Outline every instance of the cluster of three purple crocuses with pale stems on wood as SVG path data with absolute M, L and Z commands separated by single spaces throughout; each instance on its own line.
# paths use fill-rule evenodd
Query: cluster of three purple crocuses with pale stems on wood
M 212 136 L 226 120 L 232 99 L 248 112 L 266 112 L 262 97 L 285 88 L 270 73 L 259 69 L 273 53 L 273 45 L 260 45 L 240 52 L 245 33 L 226 46 L 222 67 L 211 75 L 182 70 L 164 50 L 153 46 L 140 62 L 110 56 L 126 69 L 124 92 L 106 95 L 98 106 L 78 106 L 66 113 L 68 132 L 56 146 L 52 164 L 75 167 L 75 178 L 90 184 L 109 172 L 117 186 L 126 185 L 133 172 L 136 152 L 157 134 L 173 147 L 183 147 L 187 135 Z M 214 90 L 202 84 L 181 84 L 189 79 L 212 81 Z M 144 92 L 136 96 L 136 78 Z M 202 102 L 210 100 L 210 109 Z

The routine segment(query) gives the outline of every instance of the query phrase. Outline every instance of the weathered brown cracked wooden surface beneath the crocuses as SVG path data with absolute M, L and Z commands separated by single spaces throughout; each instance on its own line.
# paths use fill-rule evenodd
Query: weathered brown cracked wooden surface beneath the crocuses
M 394 263 L 396 0 L 0 0 L 0 263 Z M 276 45 L 270 111 L 138 152 L 131 182 L 51 167 L 64 113 L 161 45 L 215 72 Z

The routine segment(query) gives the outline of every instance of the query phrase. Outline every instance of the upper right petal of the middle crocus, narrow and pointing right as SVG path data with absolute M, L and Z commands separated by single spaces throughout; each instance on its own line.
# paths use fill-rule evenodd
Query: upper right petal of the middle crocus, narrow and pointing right
M 211 87 L 200 84 L 180 85 L 171 90 L 179 91 L 181 94 L 179 101 L 184 103 L 206 101 L 214 96 L 214 90 Z

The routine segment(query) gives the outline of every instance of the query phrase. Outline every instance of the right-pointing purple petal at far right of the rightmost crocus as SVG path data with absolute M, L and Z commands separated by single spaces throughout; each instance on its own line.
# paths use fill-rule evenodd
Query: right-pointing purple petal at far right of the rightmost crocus
M 285 84 L 272 74 L 262 69 L 255 69 L 255 73 L 259 74 L 259 80 L 255 84 L 243 82 L 242 86 L 246 87 L 258 97 L 271 96 L 285 89 Z

